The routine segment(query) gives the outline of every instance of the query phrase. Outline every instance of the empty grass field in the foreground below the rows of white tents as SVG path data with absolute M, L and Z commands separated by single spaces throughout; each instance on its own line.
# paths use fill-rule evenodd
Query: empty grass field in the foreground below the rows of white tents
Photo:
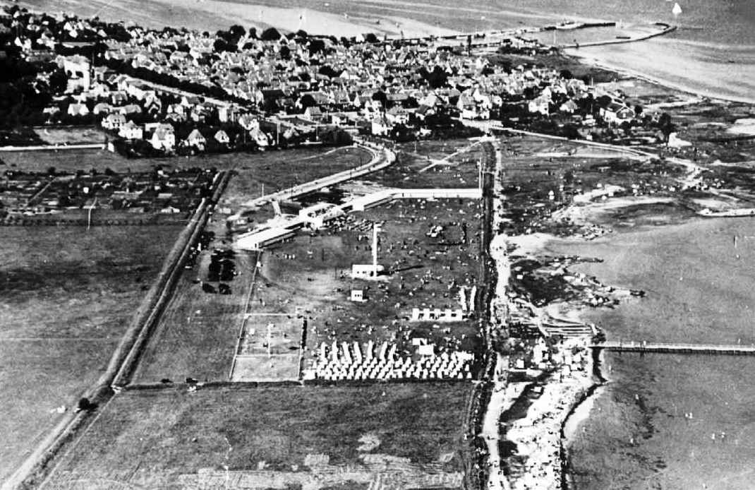
M 186 488 L 181 482 L 198 470 L 225 468 L 285 488 L 273 485 L 278 472 L 307 478 L 303 472 L 316 471 L 307 455 L 326 455 L 325 464 L 349 465 L 351 473 L 368 470 L 367 454 L 393 461 L 386 472 L 412 464 L 458 472 L 470 390 L 394 384 L 128 391 L 103 409 L 42 488 Z M 254 471 L 261 468 L 272 473 Z

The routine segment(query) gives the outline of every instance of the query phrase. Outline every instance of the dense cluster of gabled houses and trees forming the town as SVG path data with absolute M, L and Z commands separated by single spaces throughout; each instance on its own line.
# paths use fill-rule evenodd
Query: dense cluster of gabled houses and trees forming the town
M 27 29 L 37 26 L 33 15 L 24 18 Z M 57 58 L 68 76 L 69 116 L 91 113 L 118 137 L 146 140 L 166 151 L 178 144 L 203 149 L 209 141 L 234 143 L 227 131 L 205 131 L 210 122 L 234 125 L 244 138 L 267 146 L 279 135 L 260 130 L 260 120 L 272 119 L 278 133 L 312 133 L 316 139 L 324 125 L 379 136 L 402 126 L 418 137 L 430 136 L 434 126 L 451 119 L 502 117 L 512 106 L 535 118 L 559 114 L 587 126 L 621 125 L 635 117 L 620 94 L 605 87 L 567 79 L 553 69 L 506 69 L 431 39 L 370 43 L 299 33 L 263 41 L 243 32 L 233 49 L 220 49 L 218 35 L 208 32 L 129 24 L 120 26 L 123 35 L 110 37 L 86 20 L 63 17 L 57 25 L 67 38 L 89 32 L 103 42 L 99 63 L 120 63 L 156 79 L 169 76 L 225 95 L 196 97 L 93 66 L 82 56 Z M 21 34 L 17 44 L 27 46 L 26 40 Z M 612 100 L 607 106 L 584 103 L 606 94 Z M 56 108 L 45 110 L 53 114 Z M 186 124 L 196 131 L 177 138 L 171 128 Z

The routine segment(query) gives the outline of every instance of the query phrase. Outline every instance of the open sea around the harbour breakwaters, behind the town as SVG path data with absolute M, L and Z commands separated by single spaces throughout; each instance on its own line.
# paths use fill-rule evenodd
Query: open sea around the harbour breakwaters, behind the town
M 255 2 L 255 0 L 249 0 Z M 291 4 L 322 8 L 314 0 Z M 368 0 L 328 2 L 331 10 L 362 19 L 405 17 L 472 32 L 542 26 L 565 20 L 621 22 L 627 29 L 664 22 L 678 29 L 643 42 L 569 50 L 601 63 L 644 73 L 677 88 L 710 97 L 755 100 L 755 2 L 753 0 Z

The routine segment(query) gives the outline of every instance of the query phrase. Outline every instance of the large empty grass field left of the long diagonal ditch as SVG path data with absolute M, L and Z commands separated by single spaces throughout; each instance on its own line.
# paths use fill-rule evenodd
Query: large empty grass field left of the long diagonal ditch
M 106 367 L 180 227 L 2 227 L 0 480 Z

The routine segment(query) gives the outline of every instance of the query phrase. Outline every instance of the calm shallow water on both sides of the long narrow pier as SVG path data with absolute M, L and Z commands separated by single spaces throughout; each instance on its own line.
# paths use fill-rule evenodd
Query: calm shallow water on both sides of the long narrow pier
M 601 257 L 574 269 L 647 291 L 587 315 L 609 339 L 755 343 L 755 220 L 695 219 L 548 248 Z M 612 381 L 571 448 L 575 487 L 753 488 L 753 369 L 752 357 L 608 354 Z

